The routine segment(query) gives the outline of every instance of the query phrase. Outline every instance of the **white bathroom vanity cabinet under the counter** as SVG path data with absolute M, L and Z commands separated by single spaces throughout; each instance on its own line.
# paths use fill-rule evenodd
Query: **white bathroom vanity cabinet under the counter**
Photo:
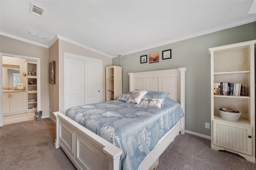
M 4 116 L 26 113 L 26 92 L 3 93 Z

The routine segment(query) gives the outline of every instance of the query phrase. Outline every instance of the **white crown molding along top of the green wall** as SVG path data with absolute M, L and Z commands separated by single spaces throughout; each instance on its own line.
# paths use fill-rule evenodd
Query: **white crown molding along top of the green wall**
M 139 52 L 139 51 L 144 51 L 144 50 L 147 50 L 147 49 L 160 47 L 160 46 L 167 45 L 167 44 L 170 44 L 170 43 L 175 43 L 175 42 L 179 42 L 179 41 L 182 41 L 182 40 L 187 40 L 187 39 L 190 39 L 190 38 L 210 34 L 210 33 L 213 33 L 213 32 L 225 30 L 225 29 L 228 29 L 228 28 L 236 27 L 236 26 L 241 26 L 241 25 L 248 24 L 248 23 L 255 22 L 255 21 L 256 21 L 256 15 L 254 15 L 252 18 L 248 18 L 247 20 L 241 20 L 240 22 L 234 22 L 234 23 L 228 24 L 228 25 L 223 26 L 223 27 L 208 30 L 206 32 L 200 32 L 198 34 L 193 34 L 193 35 L 190 35 L 190 36 L 185 36 L 185 37 L 174 39 L 174 40 L 171 40 L 171 41 L 168 41 L 168 42 L 154 44 L 154 45 L 145 47 L 143 49 L 138 49 L 136 51 L 130 51 L 130 52 L 127 52 L 127 53 L 122 53 L 121 55 L 124 56 L 124 55 L 128 55 L 128 54 L 136 53 L 136 52 Z

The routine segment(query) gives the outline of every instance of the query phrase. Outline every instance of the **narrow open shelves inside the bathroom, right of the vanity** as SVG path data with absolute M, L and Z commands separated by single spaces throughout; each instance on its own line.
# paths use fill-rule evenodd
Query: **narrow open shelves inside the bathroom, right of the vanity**
M 34 70 L 34 75 L 31 74 Z M 37 62 L 26 61 L 26 89 L 27 89 L 27 113 L 37 111 Z

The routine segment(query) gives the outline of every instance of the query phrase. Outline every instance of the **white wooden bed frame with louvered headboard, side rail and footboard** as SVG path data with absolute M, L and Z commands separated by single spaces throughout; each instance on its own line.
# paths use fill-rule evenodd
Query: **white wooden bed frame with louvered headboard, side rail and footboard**
M 166 91 L 168 97 L 180 103 L 185 114 L 186 68 L 128 73 L 130 91 Z M 56 148 L 61 147 L 77 169 L 118 170 L 122 150 L 94 134 L 60 112 L 56 115 Z M 168 145 L 181 132 L 185 132 L 185 117 L 169 131 L 169 134 L 146 156 L 138 169 L 149 169 Z

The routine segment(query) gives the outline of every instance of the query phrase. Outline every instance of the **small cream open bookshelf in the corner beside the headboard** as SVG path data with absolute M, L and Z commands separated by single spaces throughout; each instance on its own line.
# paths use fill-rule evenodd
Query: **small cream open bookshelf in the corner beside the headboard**
M 106 101 L 116 100 L 122 93 L 122 67 L 109 66 L 106 69 Z

